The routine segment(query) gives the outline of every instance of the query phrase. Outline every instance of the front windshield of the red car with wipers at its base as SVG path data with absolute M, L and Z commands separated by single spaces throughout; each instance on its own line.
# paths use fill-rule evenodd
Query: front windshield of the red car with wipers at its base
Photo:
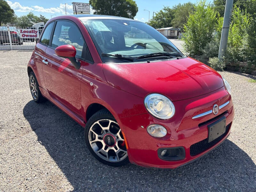
M 104 63 L 128 62 L 124 59 L 127 57 L 138 62 L 183 56 L 166 37 L 145 23 L 122 19 L 82 21 Z

